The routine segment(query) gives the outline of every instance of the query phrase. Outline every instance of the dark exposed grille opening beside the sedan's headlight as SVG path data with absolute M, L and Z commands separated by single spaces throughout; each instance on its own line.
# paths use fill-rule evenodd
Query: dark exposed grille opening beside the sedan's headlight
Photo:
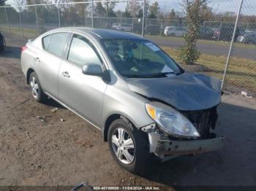
M 181 113 L 195 125 L 201 139 L 214 136 L 210 133 L 210 128 L 214 129 L 217 122 L 217 106 L 198 111 L 181 111 Z

